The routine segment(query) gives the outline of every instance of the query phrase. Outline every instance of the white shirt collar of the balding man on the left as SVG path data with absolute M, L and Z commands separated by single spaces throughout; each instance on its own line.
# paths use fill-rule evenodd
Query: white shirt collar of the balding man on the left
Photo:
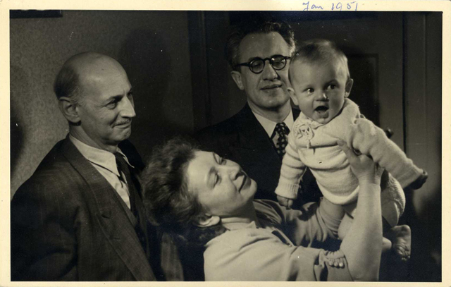
M 92 164 L 97 164 L 98 166 L 103 167 L 104 169 L 108 169 L 112 173 L 116 174 L 116 176 L 121 176 L 118 172 L 118 166 L 116 165 L 116 157 L 111 152 L 107 152 L 103 149 L 98 149 L 96 147 L 91 147 L 90 145 L 86 145 L 85 142 L 81 142 L 80 140 L 73 137 L 73 135 L 69 134 L 69 139 L 77 147 L 78 151 Z M 127 164 L 132 166 L 130 162 L 128 162 L 127 157 L 118 147 L 117 152 L 123 155 Z M 132 166 L 134 167 L 134 166 Z

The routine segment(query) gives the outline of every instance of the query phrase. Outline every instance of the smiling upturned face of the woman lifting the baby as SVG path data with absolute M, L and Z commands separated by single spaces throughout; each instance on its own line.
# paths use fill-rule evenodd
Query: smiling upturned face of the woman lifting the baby
M 197 195 L 206 214 L 221 218 L 245 213 L 257 191 L 257 183 L 238 164 L 214 152 L 195 152 L 187 178 L 190 193 Z

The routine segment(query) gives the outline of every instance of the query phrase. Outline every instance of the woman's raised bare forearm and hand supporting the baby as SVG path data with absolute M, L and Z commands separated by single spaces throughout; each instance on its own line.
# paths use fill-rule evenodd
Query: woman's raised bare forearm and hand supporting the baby
M 382 252 L 381 174 L 382 169 L 365 155 L 354 153 L 338 142 L 350 161 L 352 172 L 359 179 L 356 214 L 340 250 L 345 253 L 354 281 L 378 280 Z

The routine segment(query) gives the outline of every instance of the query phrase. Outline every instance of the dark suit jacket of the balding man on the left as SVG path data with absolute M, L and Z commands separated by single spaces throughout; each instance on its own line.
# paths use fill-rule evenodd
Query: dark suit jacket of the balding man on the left
M 121 145 L 130 164 L 142 167 L 130 142 Z M 124 205 L 73 143 L 61 140 L 11 202 L 11 280 L 163 279 L 159 235 L 149 226 L 146 254 Z

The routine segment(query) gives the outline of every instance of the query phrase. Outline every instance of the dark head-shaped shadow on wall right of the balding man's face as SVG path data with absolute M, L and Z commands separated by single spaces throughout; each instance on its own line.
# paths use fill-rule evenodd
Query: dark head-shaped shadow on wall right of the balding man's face
M 164 43 L 159 32 L 135 30 L 128 35 L 118 55 L 133 87 L 137 114 L 130 140 L 144 159 L 162 140 L 176 133 L 187 133 L 175 121 L 178 115 L 171 114 L 171 106 L 164 106 L 165 99 L 174 102 L 174 97 L 183 97 L 183 94 L 168 94 L 173 59 Z

